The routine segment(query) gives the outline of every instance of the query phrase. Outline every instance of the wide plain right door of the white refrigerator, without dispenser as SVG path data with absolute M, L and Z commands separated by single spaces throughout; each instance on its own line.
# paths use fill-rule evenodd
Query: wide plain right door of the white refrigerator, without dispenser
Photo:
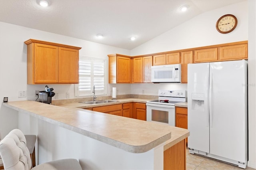
M 210 154 L 240 162 L 246 159 L 246 70 L 244 60 L 210 63 Z

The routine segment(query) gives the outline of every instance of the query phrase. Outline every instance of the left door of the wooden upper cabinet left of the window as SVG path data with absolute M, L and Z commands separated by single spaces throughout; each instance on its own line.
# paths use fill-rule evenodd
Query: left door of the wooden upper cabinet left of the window
M 34 82 L 58 83 L 58 47 L 34 44 Z

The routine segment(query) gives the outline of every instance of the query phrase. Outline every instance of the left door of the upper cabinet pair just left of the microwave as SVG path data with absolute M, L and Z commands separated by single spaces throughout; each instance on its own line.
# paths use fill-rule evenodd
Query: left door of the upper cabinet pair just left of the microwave
M 133 59 L 133 82 L 134 83 L 142 83 L 143 75 L 143 59 L 142 57 Z

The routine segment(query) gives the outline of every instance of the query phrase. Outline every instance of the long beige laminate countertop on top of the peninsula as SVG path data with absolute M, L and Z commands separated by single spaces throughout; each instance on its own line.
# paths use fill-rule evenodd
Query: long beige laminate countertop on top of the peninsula
M 84 107 L 80 104 L 83 103 L 60 107 L 35 101 L 3 103 L 11 109 L 132 153 L 146 152 L 164 142 L 166 150 L 189 136 L 187 129 L 76 108 Z

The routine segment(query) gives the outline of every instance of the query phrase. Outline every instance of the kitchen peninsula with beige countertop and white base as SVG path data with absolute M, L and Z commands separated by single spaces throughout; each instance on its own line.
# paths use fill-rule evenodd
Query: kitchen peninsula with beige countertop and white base
M 3 105 L 18 111 L 24 134 L 38 136 L 38 164 L 76 158 L 83 169 L 164 169 L 174 153 L 186 154 L 183 128 L 34 101 Z

